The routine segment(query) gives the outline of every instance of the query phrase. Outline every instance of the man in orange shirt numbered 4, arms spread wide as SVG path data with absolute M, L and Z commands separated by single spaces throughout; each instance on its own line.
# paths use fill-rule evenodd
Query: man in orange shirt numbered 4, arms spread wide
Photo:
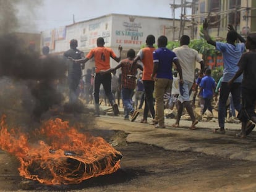
M 119 57 L 116 56 L 113 49 L 105 48 L 105 41 L 102 37 L 97 39 L 97 47 L 93 48 L 85 57 L 85 59 L 78 59 L 75 62 L 85 63 L 88 60 L 94 57 L 95 59 L 95 67 L 96 67 L 96 75 L 95 75 L 95 90 L 94 90 L 94 99 L 95 99 L 95 115 L 96 117 L 100 116 L 99 109 L 99 93 L 100 93 L 100 85 L 102 83 L 106 96 L 108 97 L 109 103 L 113 107 L 114 115 L 119 114 L 118 106 L 114 101 L 113 93 L 111 92 L 111 73 L 101 74 L 101 70 L 110 69 L 110 57 L 114 59 L 114 61 L 121 61 L 121 51 L 122 47 L 119 46 Z

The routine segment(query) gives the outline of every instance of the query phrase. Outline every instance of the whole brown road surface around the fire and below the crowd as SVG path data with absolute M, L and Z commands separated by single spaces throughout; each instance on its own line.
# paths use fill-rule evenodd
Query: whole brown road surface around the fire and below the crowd
M 78 119 L 83 121 L 83 117 Z M 79 185 L 20 185 L 14 157 L 0 153 L 2 191 L 256 191 L 256 134 L 236 138 L 237 127 L 226 135 L 211 133 L 213 123 L 199 123 L 198 130 L 155 129 L 152 125 L 127 122 L 122 117 L 101 116 L 93 135 L 103 136 L 122 152 L 121 169 Z M 166 123 L 167 125 L 171 124 Z M 232 125 L 231 125 L 232 127 Z M 30 183 L 31 184 L 31 183 Z

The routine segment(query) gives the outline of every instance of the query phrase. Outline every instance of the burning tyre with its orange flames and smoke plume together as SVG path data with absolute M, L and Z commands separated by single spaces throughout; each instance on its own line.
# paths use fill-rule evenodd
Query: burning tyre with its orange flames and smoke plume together
M 53 106 L 61 107 L 67 66 L 58 56 L 40 59 L 14 35 L 19 28 L 17 3 L 25 2 L 0 0 L 0 148 L 17 157 L 20 176 L 46 185 L 80 183 L 116 172 L 122 155 L 103 138 L 80 133 L 61 119 L 38 121 Z M 30 127 L 31 117 L 42 123 L 40 128 Z

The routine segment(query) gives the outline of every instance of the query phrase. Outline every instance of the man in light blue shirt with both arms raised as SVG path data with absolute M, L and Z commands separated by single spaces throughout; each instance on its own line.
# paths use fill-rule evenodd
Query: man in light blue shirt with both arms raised
M 231 86 L 228 86 L 228 81 L 235 75 L 239 67 L 237 63 L 242 56 L 242 53 L 245 50 L 245 40 L 239 35 L 233 28 L 232 25 L 228 25 L 228 33 L 226 37 L 227 43 L 221 43 L 211 40 L 210 35 L 207 31 L 208 20 L 203 21 L 203 35 L 208 44 L 211 44 L 216 47 L 218 51 L 221 51 L 223 54 L 224 70 L 223 70 L 223 79 L 221 82 L 220 88 L 220 99 L 219 99 L 219 109 L 218 109 L 218 122 L 219 129 L 215 129 L 214 133 L 225 133 L 224 129 L 224 120 L 226 115 L 226 101 L 228 100 L 229 93 L 232 94 L 234 107 L 237 111 L 241 109 L 241 82 L 242 75 L 238 77 Z M 235 44 L 237 38 L 242 43 Z

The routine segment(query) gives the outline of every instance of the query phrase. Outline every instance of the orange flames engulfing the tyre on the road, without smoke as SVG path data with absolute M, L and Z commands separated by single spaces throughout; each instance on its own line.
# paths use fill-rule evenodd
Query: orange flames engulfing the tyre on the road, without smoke
M 48 120 L 35 130 L 38 141 L 33 144 L 19 128 L 8 131 L 6 115 L 0 128 L 1 149 L 19 159 L 20 176 L 30 180 L 46 185 L 80 183 L 120 168 L 120 152 L 103 138 L 79 133 L 61 119 Z

